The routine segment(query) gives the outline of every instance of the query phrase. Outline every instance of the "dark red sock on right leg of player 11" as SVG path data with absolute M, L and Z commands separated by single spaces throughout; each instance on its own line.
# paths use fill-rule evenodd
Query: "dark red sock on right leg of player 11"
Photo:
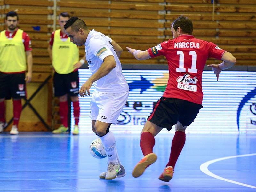
M 185 132 L 176 131 L 172 139 L 171 154 L 170 154 L 169 162 L 167 163 L 166 167 L 172 166 L 174 169 L 174 166 L 185 144 L 185 141 L 186 141 Z

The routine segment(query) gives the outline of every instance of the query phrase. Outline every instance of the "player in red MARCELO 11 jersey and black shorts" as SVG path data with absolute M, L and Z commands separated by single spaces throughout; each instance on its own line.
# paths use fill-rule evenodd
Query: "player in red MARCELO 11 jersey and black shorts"
M 153 164 L 157 156 L 153 153 L 154 137 L 163 129 L 168 131 L 175 125 L 171 154 L 164 172 L 159 176 L 162 181 L 172 179 L 176 161 L 185 144 L 185 130 L 203 108 L 202 73 L 209 57 L 222 60 L 212 67 L 217 81 L 222 70 L 232 67 L 236 58 L 220 49 L 216 44 L 194 38 L 193 24 L 185 16 L 180 16 L 172 23 L 173 39 L 165 41 L 146 51 L 127 47 L 137 60 L 145 60 L 164 55 L 169 66 L 167 87 L 148 116 L 141 132 L 140 147 L 144 157 L 133 169 L 133 177 L 139 177 Z

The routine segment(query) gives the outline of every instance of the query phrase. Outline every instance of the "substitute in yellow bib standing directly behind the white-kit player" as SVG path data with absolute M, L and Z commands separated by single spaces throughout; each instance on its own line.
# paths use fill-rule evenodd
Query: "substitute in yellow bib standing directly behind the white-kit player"
M 68 98 L 70 95 L 74 108 L 75 127 L 73 135 L 79 134 L 79 78 L 78 68 L 85 62 L 85 56 L 79 61 L 79 48 L 70 42 L 69 37 L 64 31 L 64 25 L 69 19 L 67 12 L 60 13 L 60 29 L 52 32 L 49 42 L 48 52 L 52 59 L 54 68 L 53 86 L 55 97 L 59 97 L 61 126 L 53 130 L 53 133 L 60 134 L 68 131 Z

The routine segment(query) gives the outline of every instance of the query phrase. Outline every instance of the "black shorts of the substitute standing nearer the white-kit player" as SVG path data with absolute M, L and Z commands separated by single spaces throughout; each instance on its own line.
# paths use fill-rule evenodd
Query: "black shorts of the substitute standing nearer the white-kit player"
M 54 73 L 53 86 L 55 97 L 60 97 L 65 94 L 76 96 L 79 92 L 79 77 L 78 71 L 68 74 Z

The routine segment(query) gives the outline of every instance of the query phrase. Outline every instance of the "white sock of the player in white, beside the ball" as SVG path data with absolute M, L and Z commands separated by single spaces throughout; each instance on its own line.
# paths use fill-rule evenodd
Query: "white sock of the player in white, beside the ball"
M 108 157 L 108 163 L 114 163 L 117 164 L 117 157 L 116 157 L 116 140 L 111 131 L 109 131 L 106 135 L 99 137 L 101 139 L 101 142 L 105 148 L 107 157 Z

